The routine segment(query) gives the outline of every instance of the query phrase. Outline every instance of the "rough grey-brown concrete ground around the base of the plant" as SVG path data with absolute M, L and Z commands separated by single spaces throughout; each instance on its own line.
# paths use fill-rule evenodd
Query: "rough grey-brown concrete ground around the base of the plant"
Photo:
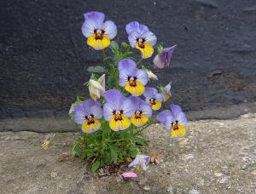
M 256 114 L 234 120 L 189 123 L 183 138 L 171 138 L 159 124 L 145 132 L 145 154 L 160 153 L 160 164 L 137 172 L 136 180 L 118 174 L 99 176 L 79 158 L 57 159 L 70 151 L 77 134 L 57 133 L 48 150 L 46 134 L 0 134 L 1 193 L 255 193 Z

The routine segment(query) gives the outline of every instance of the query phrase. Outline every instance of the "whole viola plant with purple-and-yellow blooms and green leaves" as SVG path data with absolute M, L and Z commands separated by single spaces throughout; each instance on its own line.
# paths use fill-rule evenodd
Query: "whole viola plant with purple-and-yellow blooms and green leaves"
M 105 14 L 89 12 L 84 14 L 84 19 L 82 33 L 87 38 L 86 43 L 90 48 L 102 50 L 105 65 L 88 68 L 92 73 L 87 83 L 90 99 L 78 98 L 70 109 L 70 115 L 86 134 L 83 144 L 89 142 L 85 146 L 78 141 L 73 150 L 77 150 L 80 157 L 94 158 L 96 162 L 92 168 L 96 169 L 102 163 L 117 163 L 118 157 L 120 161 L 135 157 L 133 153 L 139 154 L 137 144 L 147 145 L 140 133 L 152 123 L 150 117 L 153 111 L 159 111 L 163 103 L 172 97 L 172 81 L 166 86 L 160 85 L 158 89 L 148 87 L 148 81 L 158 80 L 158 77 L 141 63 L 157 49 L 152 65 L 157 69 L 168 68 L 177 45 L 169 48 L 160 44 L 155 46 L 157 37 L 154 32 L 149 31 L 148 26 L 131 21 L 125 26 L 129 44 L 121 43 L 119 46 L 113 41 L 117 27 L 112 20 L 104 21 Z M 113 57 L 107 57 L 106 48 L 110 48 Z M 139 60 L 131 57 L 131 48 L 139 50 Z M 160 111 L 156 120 L 172 136 L 183 136 L 185 133 L 187 119 L 180 106 L 172 104 L 171 110 Z M 125 131 L 128 133 L 123 133 Z M 91 138 L 87 138 L 87 134 Z M 97 146 L 93 150 L 91 145 L 94 144 Z M 81 154 L 84 147 L 89 150 Z

